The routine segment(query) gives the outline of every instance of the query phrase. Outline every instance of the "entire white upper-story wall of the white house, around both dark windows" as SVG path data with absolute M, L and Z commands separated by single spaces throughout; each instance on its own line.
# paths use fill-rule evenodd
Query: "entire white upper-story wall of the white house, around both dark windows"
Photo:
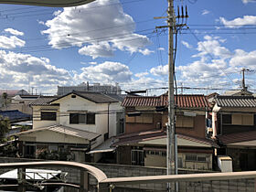
M 121 107 L 121 102 L 113 103 L 95 103 L 93 101 L 86 100 L 80 96 L 76 98 L 71 98 L 71 94 L 66 97 L 59 99 L 58 101 L 53 101 L 54 103 L 59 103 L 59 106 L 33 106 L 33 129 L 40 127 L 47 127 L 55 124 L 60 124 L 64 126 L 69 126 L 72 128 L 80 129 L 83 131 L 100 133 L 101 136 L 97 138 L 96 142 L 92 144 L 91 148 L 98 146 L 104 142 L 104 134 L 108 133 L 108 122 L 109 122 L 109 137 L 115 136 L 117 133 L 117 121 L 116 113 L 110 112 L 108 117 L 108 105 L 110 111 L 120 111 L 123 110 Z M 57 121 L 41 121 L 41 112 L 44 110 L 55 109 L 57 111 Z M 45 111 L 54 112 L 54 111 Z M 95 124 L 70 124 L 69 123 L 69 113 L 82 113 L 82 112 L 95 112 Z M 109 118 L 109 120 L 108 120 Z

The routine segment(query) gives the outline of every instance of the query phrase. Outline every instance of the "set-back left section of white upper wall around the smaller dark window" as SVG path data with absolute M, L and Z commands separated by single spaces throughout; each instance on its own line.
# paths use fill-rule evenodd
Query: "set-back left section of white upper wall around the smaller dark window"
M 33 129 L 59 124 L 59 106 L 32 106 Z M 55 110 L 55 111 L 49 111 Z M 41 121 L 41 112 L 57 112 L 56 121 Z

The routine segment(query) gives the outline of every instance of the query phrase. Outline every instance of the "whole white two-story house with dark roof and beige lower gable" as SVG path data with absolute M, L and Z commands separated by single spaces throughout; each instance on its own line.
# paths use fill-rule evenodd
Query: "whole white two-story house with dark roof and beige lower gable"
M 33 129 L 17 134 L 26 157 L 54 151 L 75 161 L 98 161 L 101 154 L 87 153 L 123 130 L 121 101 L 100 92 L 41 96 L 31 106 Z

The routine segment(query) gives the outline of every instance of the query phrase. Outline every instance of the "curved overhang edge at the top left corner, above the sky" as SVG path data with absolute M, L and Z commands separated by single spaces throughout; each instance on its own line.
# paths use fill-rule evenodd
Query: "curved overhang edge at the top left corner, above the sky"
M 0 4 L 68 7 L 85 5 L 93 1 L 95 0 L 0 0 Z

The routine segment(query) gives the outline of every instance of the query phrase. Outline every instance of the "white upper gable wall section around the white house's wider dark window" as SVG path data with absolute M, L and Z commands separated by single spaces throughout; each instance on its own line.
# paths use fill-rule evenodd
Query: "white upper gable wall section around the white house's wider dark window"
M 101 136 L 97 139 L 95 144 L 92 144 L 91 148 L 98 146 L 104 142 L 104 134 L 108 133 L 108 118 L 109 118 L 109 136 L 116 135 L 116 113 L 110 112 L 108 117 L 108 105 L 109 103 L 95 103 L 93 101 L 86 100 L 80 96 L 71 98 L 71 94 L 66 97 L 53 101 L 52 103 L 59 103 L 59 113 L 61 125 L 73 127 L 76 129 L 100 133 Z M 110 111 L 116 111 L 123 109 L 120 102 L 111 103 L 109 106 Z M 95 112 L 95 124 L 70 124 L 69 113 L 72 112 Z

